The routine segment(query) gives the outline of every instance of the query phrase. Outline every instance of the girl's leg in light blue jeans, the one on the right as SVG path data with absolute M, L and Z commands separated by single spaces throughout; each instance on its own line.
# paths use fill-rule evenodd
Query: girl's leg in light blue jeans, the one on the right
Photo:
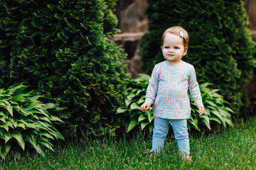
M 181 151 L 181 154 L 189 154 L 189 138 L 188 138 L 188 128 L 187 120 L 170 120 L 172 128 L 174 130 L 174 136 L 178 143 L 178 150 Z

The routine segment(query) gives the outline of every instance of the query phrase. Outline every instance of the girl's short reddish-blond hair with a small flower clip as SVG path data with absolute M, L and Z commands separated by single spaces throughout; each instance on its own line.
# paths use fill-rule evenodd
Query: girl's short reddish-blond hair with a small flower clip
M 166 33 L 172 33 L 172 34 L 181 36 L 180 32 L 183 33 L 182 41 L 183 41 L 184 47 L 188 47 L 188 39 L 189 39 L 188 33 L 186 32 L 186 30 L 184 30 L 180 26 L 173 26 L 164 31 L 162 38 L 161 38 L 161 46 L 163 46 L 163 44 L 164 44 L 164 37 L 165 37 Z

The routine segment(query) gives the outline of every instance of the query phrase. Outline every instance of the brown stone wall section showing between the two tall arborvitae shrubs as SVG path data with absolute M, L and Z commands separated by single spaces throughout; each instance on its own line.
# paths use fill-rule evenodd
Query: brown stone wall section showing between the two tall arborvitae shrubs
M 114 12 L 118 19 L 117 27 L 122 33 L 114 35 L 112 40 L 122 45 L 127 52 L 132 78 L 136 78 L 137 74 L 142 72 L 139 43 L 147 30 L 148 20 L 144 14 L 146 5 L 146 0 L 119 0 Z

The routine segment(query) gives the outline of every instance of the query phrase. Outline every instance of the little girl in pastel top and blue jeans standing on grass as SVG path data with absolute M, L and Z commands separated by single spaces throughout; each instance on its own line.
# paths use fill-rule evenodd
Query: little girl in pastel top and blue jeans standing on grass
M 171 122 L 181 158 L 192 161 L 187 128 L 187 119 L 191 116 L 189 94 L 199 109 L 199 115 L 203 114 L 204 106 L 195 69 L 193 65 L 181 60 L 188 51 L 186 30 L 179 26 L 168 28 L 161 38 L 161 50 L 166 61 L 155 65 L 146 89 L 146 100 L 141 106 L 144 112 L 154 102 L 151 151 L 163 149 Z

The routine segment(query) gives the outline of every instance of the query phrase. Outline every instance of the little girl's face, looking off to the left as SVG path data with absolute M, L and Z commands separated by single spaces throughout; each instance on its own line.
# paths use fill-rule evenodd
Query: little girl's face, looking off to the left
M 161 50 L 167 63 L 174 66 L 181 63 L 181 59 L 186 55 L 188 48 L 184 47 L 181 36 L 166 33 Z

